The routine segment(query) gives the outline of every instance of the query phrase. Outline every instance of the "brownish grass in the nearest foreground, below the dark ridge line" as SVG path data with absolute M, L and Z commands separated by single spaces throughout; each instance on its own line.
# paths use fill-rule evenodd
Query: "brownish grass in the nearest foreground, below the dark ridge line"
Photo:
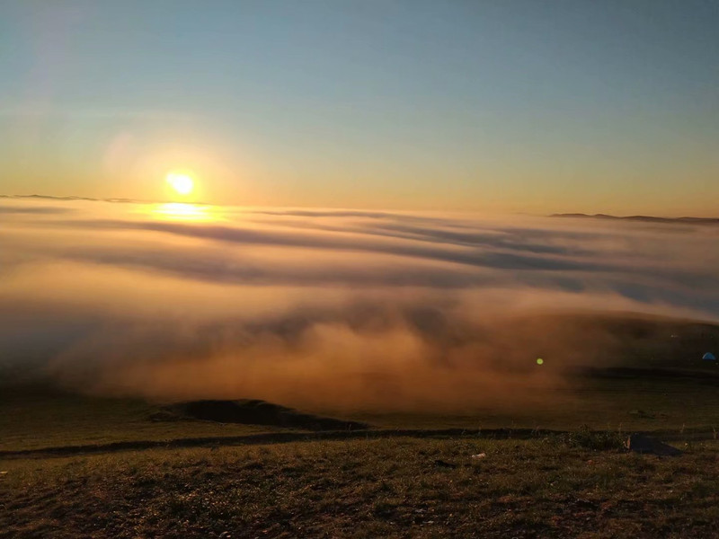
M 676 458 L 587 445 L 402 438 L 0 461 L 0 537 L 719 534 L 717 442 Z

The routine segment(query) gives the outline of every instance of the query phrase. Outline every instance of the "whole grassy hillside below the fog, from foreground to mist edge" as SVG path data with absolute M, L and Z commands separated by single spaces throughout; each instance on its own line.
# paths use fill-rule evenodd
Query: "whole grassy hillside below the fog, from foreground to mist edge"
M 719 535 L 714 384 L 596 379 L 563 398 L 558 407 L 502 413 L 353 414 L 377 429 L 568 431 L 531 439 L 490 439 L 474 430 L 464 437 L 0 455 L 0 537 Z M 46 386 L 7 389 L 0 410 L 4 451 L 284 430 L 154 421 L 155 404 Z M 621 442 L 636 429 L 672 434 L 684 455 L 626 453 Z M 486 456 L 471 457 L 480 453 Z

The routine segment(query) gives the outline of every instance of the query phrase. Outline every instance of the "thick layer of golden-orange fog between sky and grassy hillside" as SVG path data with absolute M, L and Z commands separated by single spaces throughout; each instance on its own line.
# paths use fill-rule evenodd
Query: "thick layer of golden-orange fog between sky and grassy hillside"
M 158 399 L 547 398 L 558 367 L 611 363 L 588 315 L 719 320 L 717 240 L 715 225 L 4 198 L 0 361 Z

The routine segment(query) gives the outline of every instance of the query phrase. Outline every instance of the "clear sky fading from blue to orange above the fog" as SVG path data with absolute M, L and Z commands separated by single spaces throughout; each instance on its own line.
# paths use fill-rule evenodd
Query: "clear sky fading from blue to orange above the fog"
M 0 0 L 0 192 L 719 214 L 719 2 Z

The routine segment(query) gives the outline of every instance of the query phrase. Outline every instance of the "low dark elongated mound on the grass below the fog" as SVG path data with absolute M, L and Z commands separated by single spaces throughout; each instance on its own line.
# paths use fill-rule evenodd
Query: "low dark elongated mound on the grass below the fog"
M 168 406 L 167 410 L 184 417 L 219 423 L 273 425 L 306 430 L 364 430 L 369 428 L 367 424 L 359 421 L 324 418 L 260 400 L 180 402 Z

